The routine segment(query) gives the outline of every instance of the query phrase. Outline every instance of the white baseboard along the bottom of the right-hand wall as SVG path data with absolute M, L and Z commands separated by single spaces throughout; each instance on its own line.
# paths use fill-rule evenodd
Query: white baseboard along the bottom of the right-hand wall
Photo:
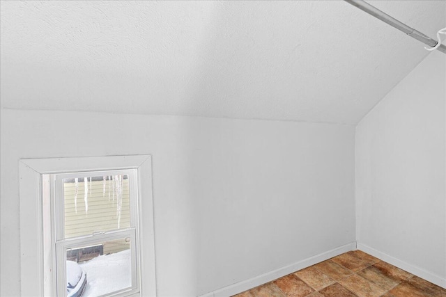
M 409 273 L 412 273 L 413 275 L 417 275 L 420 278 L 424 278 L 424 280 L 432 282 L 433 284 L 436 284 L 446 289 L 446 279 L 442 278 L 440 275 L 436 275 L 434 273 L 424 270 L 423 268 L 401 261 L 400 259 L 387 255 L 384 252 L 380 252 L 378 250 L 375 250 L 374 248 L 370 248 L 369 246 L 366 246 L 363 243 L 357 243 L 357 249 L 362 250 L 363 252 L 367 252 L 367 254 L 377 257 L 378 259 L 381 259 L 387 263 L 397 266 L 398 268 L 401 268 Z

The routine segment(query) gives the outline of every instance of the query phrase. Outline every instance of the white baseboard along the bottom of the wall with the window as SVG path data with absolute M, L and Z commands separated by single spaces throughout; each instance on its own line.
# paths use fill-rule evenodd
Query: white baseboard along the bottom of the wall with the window
M 278 268 L 274 271 L 270 271 L 267 273 L 263 273 L 254 278 L 250 278 L 249 280 L 243 280 L 242 282 L 236 282 L 235 284 L 230 284 L 227 287 L 223 287 L 221 289 L 217 289 L 215 291 L 209 292 L 207 294 L 203 294 L 199 297 L 228 297 L 233 296 L 248 289 L 252 289 L 254 287 L 260 286 L 261 284 L 265 284 L 266 282 L 270 282 L 277 278 L 282 278 L 282 276 L 289 275 L 294 271 L 298 271 L 303 268 L 307 268 L 319 262 L 323 262 L 326 259 L 330 259 L 332 257 L 336 257 L 337 255 L 341 255 L 344 252 L 348 252 L 350 250 L 356 249 L 356 242 L 353 241 L 351 243 L 347 243 L 344 246 L 339 246 L 339 248 L 334 248 L 332 250 L 328 250 L 327 252 L 323 252 L 319 255 L 309 257 L 299 262 L 295 262 L 293 264 L 284 266 L 282 268 Z

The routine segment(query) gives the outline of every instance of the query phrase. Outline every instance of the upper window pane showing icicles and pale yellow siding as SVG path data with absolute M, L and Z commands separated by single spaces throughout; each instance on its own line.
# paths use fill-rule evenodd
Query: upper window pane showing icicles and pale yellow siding
M 129 175 L 63 179 L 65 238 L 130 227 Z

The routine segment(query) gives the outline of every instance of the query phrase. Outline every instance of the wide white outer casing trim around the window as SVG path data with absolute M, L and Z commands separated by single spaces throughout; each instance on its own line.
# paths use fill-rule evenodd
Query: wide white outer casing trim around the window
M 153 228 L 153 191 L 151 156 L 94 156 L 80 158 L 20 160 L 20 255 L 22 296 L 45 296 L 54 287 L 53 253 L 46 250 L 44 232 L 53 225 L 44 222 L 44 192 L 49 185 L 44 175 L 103 170 L 137 170 L 140 291 L 129 296 L 156 296 L 155 240 Z M 49 224 L 50 226 L 48 226 Z M 52 239 L 53 242 L 54 238 Z M 46 239 L 48 242 L 48 239 Z M 45 271 L 46 270 L 46 271 Z M 53 293 L 54 294 L 54 293 Z

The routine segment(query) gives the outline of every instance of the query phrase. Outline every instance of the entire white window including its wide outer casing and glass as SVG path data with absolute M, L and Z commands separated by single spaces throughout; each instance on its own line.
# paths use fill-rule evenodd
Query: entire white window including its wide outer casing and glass
M 150 156 L 21 160 L 20 176 L 22 296 L 155 296 Z

